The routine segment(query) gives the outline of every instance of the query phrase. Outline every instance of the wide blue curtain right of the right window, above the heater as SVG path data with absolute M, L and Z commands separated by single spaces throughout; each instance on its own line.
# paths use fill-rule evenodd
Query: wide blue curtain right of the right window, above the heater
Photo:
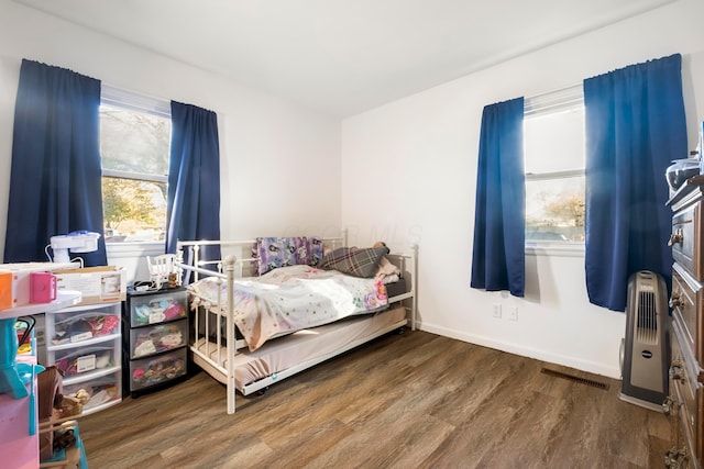
M 671 284 L 664 171 L 688 157 L 681 62 L 673 55 L 584 80 L 586 288 L 609 310 L 625 311 L 638 270 Z

